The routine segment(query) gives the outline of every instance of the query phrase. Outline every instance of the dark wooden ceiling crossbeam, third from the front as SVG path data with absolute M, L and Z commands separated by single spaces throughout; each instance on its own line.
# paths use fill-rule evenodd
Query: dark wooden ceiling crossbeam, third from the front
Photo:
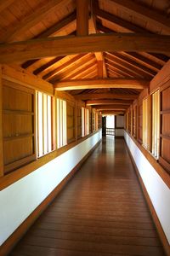
M 86 94 L 79 94 L 75 95 L 74 97 L 77 100 L 99 100 L 99 99 L 121 99 L 121 100 L 135 100 L 139 95 L 133 94 L 115 94 L 111 92 L 107 93 L 86 93 Z

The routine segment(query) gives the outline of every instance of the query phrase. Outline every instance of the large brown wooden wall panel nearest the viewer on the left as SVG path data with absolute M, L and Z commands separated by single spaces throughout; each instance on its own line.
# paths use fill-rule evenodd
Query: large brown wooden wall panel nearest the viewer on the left
M 3 80 L 4 172 L 36 159 L 35 91 Z

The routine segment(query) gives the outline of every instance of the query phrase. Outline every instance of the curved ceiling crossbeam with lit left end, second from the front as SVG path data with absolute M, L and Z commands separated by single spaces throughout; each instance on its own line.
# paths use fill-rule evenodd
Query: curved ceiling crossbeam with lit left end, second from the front
M 129 88 L 144 89 L 149 86 L 149 80 L 144 79 L 82 79 L 65 80 L 54 84 L 56 90 L 79 90 L 99 88 Z

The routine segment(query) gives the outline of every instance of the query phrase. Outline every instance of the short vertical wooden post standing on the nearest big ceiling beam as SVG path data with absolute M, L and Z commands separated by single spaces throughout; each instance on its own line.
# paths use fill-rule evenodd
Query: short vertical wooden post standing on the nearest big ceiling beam
M 88 36 L 89 0 L 77 0 L 77 36 Z

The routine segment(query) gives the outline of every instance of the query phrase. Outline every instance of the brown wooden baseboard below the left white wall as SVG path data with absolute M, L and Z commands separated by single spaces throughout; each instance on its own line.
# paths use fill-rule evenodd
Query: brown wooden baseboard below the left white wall
M 37 220 L 37 218 L 42 214 L 42 212 L 48 207 L 48 205 L 54 200 L 56 195 L 59 194 L 61 189 L 65 187 L 65 184 L 68 183 L 71 180 L 71 177 L 75 175 L 75 173 L 78 171 L 78 169 L 82 166 L 83 162 L 88 159 L 90 154 L 93 153 L 94 149 L 99 146 L 99 143 L 101 143 L 101 139 L 98 143 L 95 144 L 95 146 L 90 149 L 88 154 L 86 154 L 82 160 L 75 166 L 72 171 L 62 180 L 61 183 L 46 197 L 44 201 L 33 211 L 31 212 L 31 215 L 26 218 L 26 220 L 20 224 L 17 230 L 14 231 L 14 233 L 8 237 L 8 239 L 3 243 L 3 245 L 0 247 L 0 256 L 5 256 L 10 253 L 10 251 L 13 249 L 13 247 L 16 245 L 18 241 L 20 241 L 20 238 L 26 234 L 26 231 L 30 229 L 31 225 Z

